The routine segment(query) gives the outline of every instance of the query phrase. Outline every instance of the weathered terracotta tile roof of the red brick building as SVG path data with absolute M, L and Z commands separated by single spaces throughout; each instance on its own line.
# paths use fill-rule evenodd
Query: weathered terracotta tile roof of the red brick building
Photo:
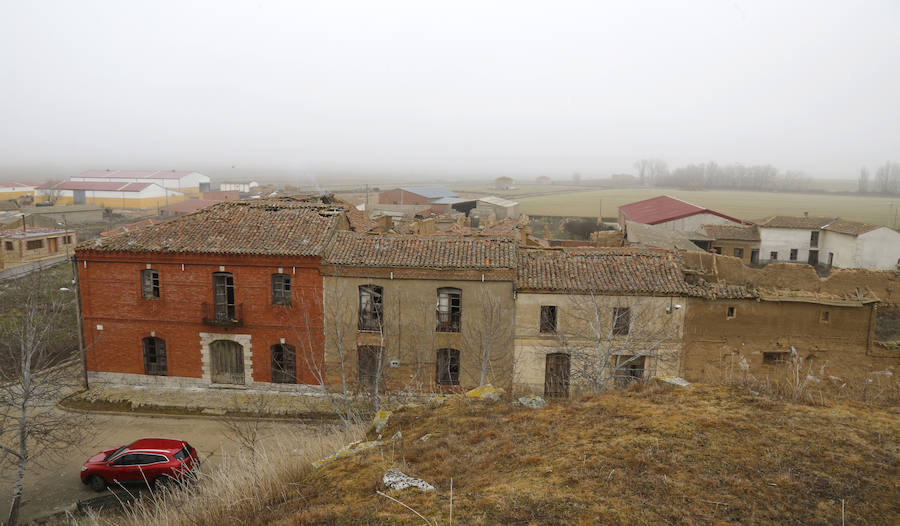
M 296 198 L 225 201 L 193 214 L 82 243 L 79 250 L 321 255 L 344 210 Z

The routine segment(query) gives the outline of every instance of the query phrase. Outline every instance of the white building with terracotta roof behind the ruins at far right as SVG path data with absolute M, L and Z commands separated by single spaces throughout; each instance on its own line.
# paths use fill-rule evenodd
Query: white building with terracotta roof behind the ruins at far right
M 900 232 L 836 217 L 773 216 L 757 223 L 760 262 L 894 269 Z

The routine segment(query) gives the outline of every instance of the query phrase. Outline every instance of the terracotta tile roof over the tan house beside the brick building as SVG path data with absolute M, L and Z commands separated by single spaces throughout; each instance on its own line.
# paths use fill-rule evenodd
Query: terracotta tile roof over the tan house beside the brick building
M 354 267 L 511 269 L 516 244 L 507 238 L 338 232 L 323 263 Z

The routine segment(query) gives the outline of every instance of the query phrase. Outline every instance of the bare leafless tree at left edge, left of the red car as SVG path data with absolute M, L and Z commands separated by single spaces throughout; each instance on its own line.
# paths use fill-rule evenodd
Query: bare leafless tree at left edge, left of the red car
M 66 343 L 73 298 L 43 270 L 0 287 L 0 467 L 15 468 L 7 518 L 15 525 L 28 466 L 76 444 L 86 417 L 56 407 L 81 386 Z

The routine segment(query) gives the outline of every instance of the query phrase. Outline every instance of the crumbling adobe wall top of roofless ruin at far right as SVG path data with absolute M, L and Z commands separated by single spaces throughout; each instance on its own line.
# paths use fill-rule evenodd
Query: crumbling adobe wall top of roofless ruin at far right
M 859 287 L 868 288 L 885 303 L 900 303 L 900 274 L 893 270 L 832 269 L 828 277 L 820 278 L 805 264 L 775 263 L 756 269 L 729 256 L 682 252 L 682 257 L 685 269 L 699 271 L 711 282 L 828 294 L 846 294 Z

